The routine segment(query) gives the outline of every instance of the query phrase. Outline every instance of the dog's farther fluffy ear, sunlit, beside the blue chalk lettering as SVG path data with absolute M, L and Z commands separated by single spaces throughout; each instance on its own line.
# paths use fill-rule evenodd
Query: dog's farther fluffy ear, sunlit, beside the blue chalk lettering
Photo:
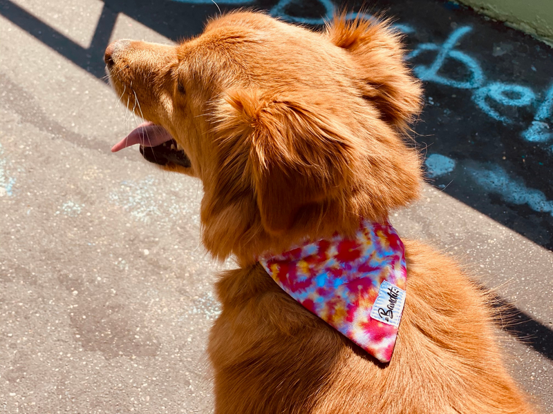
M 362 96 L 382 120 L 404 130 L 422 108 L 422 88 L 405 64 L 401 35 L 382 19 L 354 19 L 345 14 L 329 23 L 326 35 L 350 52 Z

